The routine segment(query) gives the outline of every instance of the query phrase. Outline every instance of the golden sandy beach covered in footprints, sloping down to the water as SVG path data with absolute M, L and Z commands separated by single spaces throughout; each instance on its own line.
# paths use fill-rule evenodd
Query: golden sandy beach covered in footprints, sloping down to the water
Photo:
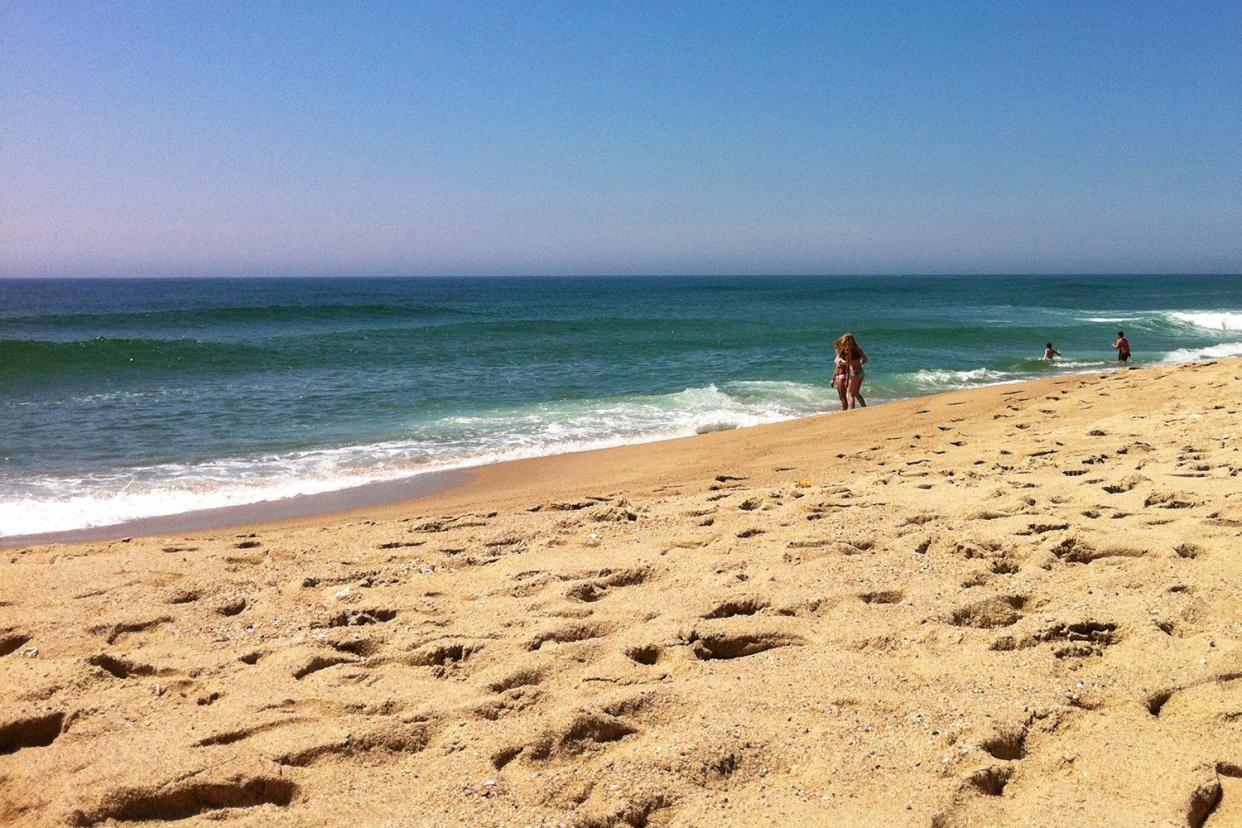
M 0 823 L 1242 824 L 1240 375 L 6 550 Z

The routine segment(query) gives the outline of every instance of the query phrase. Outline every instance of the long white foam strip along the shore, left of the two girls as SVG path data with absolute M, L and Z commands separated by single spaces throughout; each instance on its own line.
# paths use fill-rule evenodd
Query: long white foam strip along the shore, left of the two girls
M 20 482 L 0 497 L 0 536 L 281 500 L 424 472 L 591 451 L 826 411 L 835 395 L 799 382 L 729 382 L 676 394 L 546 402 L 416 428 L 410 439 Z

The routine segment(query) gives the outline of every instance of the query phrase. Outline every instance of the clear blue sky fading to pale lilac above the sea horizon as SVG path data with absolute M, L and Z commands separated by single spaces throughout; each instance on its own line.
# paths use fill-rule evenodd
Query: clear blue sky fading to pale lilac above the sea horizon
M 1242 272 L 1242 2 L 2 2 L 0 274 Z

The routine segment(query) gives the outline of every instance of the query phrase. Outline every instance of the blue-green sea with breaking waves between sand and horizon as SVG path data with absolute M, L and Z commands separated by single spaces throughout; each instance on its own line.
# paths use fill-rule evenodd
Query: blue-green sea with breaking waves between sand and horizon
M 1242 278 L 0 281 L 0 535 L 831 411 L 846 329 L 879 402 L 1110 369 L 1119 326 L 1242 354 Z

